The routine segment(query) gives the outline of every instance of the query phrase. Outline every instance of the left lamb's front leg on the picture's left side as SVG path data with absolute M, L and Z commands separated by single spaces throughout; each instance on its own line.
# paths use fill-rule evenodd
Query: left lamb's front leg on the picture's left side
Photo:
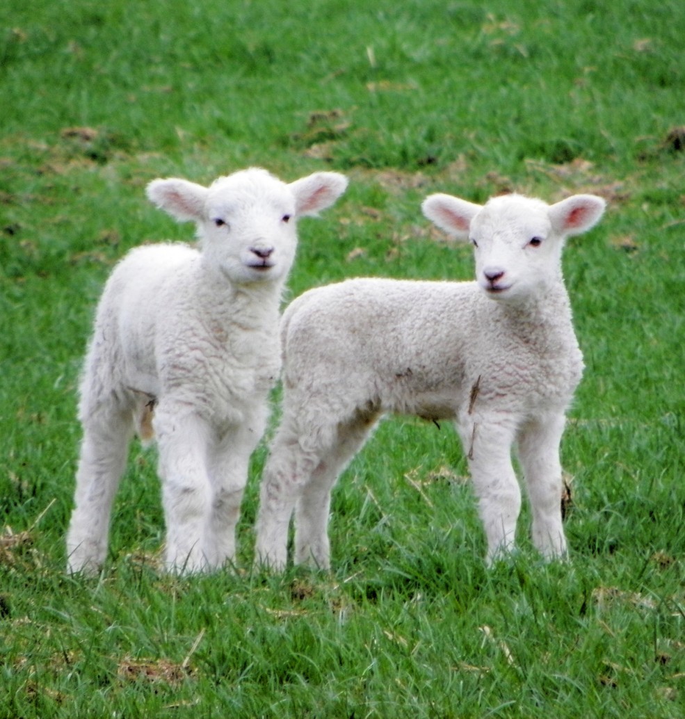
M 198 572 L 209 565 L 204 537 L 211 506 L 211 427 L 187 407 L 164 399 L 155 409 L 153 424 L 160 449 L 167 569 Z

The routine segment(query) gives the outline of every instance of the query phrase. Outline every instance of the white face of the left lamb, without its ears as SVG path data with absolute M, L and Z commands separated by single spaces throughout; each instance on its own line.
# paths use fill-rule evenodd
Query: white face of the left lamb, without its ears
M 209 188 L 198 221 L 203 253 L 231 282 L 282 280 L 297 247 L 295 197 L 264 170 L 244 170 Z

